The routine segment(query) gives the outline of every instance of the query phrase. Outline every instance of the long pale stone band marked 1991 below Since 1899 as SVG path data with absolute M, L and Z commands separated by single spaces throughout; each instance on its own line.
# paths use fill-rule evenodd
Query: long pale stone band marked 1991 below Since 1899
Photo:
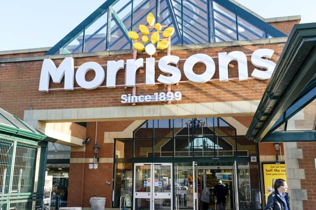
M 71 109 L 25 110 L 24 121 L 35 128 L 40 122 L 94 122 L 112 120 L 145 120 L 170 117 L 230 117 L 253 115 L 259 101 L 214 102 L 177 105 L 136 105 Z M 155 112 L 148 112 L 155 108 Z M 81 115 L 79 113 L 86 114 Z

